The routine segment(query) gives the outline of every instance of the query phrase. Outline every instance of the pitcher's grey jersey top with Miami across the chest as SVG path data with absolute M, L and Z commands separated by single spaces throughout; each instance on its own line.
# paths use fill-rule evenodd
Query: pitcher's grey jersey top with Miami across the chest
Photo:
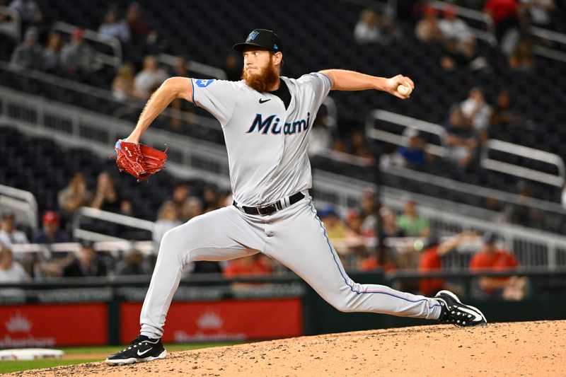
M 243 81 L 191 79 L 192 102 L 214 115 L 224 131 L 239 204 L 269 204 L 311 188 L 308 136 L 330 79 L 320 73 L 281 79 L 291 93 L 287 109 L 277 95 L 254 91 Z

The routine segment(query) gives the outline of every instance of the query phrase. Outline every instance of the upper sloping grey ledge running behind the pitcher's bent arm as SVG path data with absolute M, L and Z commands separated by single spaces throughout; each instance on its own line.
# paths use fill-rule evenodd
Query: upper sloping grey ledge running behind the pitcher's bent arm
M 85 95 L 91 95 L 96 98 L 108 100 L 112 103 L 115 103 L 116 105 L 128 106 L 130 108 L 139 109 L 140 111 L 144 108 L 144 102 L 141 100 L 128 100 L 127 102 L 121 102 L 119 100 L 116 100 L 112 96 L 112 92 L 106 89 L 87 85 L 86 83 L 81 83 L 79 81 L 64 79 L 63 77 L 47 74 L 46 72 L 43 71 L 37 71 L 35 69 L 25 69 L 25 70 L 15 69 L 13 66 L 10 66 L 10 64 L 7 64 L 6 62 L 3 62 L 1 60 L 0 60 L 0 69 L 4 69 L 5 71 L 10 71 L 11 73 L 18 74 L 20 76 L 25 76 L 31 79 L 43 81 L 44 83 L 49 83 L 50 85 L 58 86 L 60 88 L 65 88 L 70 91 L 77 91 Z M 169 108 L 163 110 L 161 114 L 177 120 L 182 120 L 183 122 L 187 122 L 189 124 L 199 124 L 200 126 L 204 126 L 208 128 L 216 128 L 218 124 L 216 120 L 209 117 L 203 117 L 202 115 L 193 114 L 191 112 L 173 111 Z

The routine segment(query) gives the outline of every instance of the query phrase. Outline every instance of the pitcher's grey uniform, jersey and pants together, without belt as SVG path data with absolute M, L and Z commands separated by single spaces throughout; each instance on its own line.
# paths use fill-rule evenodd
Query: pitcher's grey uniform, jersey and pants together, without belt
M 330 79 L 323 74 L 282 79 L 291 94 L 287 109 L 277 95 L 254 91 L 243 81 L 191 80 L 193 103 L 211 112 L 224 130 L 236 202 L 270 204 L 299 191 L 305 197 L 266 216 L 224 207 L 168 231 L 141 308 L 141 335 L 163 335 L 167 311 L 188 263 L 255 253 L 289 267 L 340 311 L 439 318 L 441 305 L 434 298 L 357 284 L 347 276 L 308 195 L 308 135 L 330 91 Z

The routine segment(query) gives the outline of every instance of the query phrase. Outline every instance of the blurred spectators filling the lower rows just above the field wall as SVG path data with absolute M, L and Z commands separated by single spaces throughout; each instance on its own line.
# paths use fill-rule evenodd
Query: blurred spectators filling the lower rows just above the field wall
M 81 205 L 128 214 L 131 207 L 125 206 L 125 199 L 115 187 L 109 173 L 98 176 L 95 190 L 88 190 L 80 173 L 75 173 L 69 185 L 60 190 L 59 210 L 49 210 L 42 214 L 42 227 L 33 235 L 26 235 L 16 228 L 16 216 L 5 211 L 0 220 L 0 282 L 41 281 L 50 277 L 105 277 L 125 275 L 149 275 L 155 263 L 155 255 L 146 255 L 139 250 L 124 250 L 117 260 L 109 260 L 108 255 L 95 250 L 93 243 L 81 241 L 76 253 L 52 253 L 45 257 L 42 253 L 17 253 L 13 255 L 14 245 L 25 243 L 64 243 L 71 241 L 68 227 L 62 222 L 69 219 Z M 153 239 L 158 245 L 163 234 L 171 228 L 189 221 L 195 216 L 220 207 L 231 205 L 229 192 L 221 192 L 216 187 L 207 186 L 201 192 L 192 190 L 189 182 L 179 182 L 171 195 L 161 205 L 156 216 Z M 381 206 L 376 213 L 374 192 L 365 190 L 359 206 L 340 214 L 333 207 L 318 210 L 328 238 L 333 243 L 337 255 L 350 270 L 371 272 L 381 268 L 385 271 L 395 269 L 420 269 L 434 272 L 442 268 L 442 257 L 454 252 L 463 243 L 475 247 L 477 253 L 469 262 L 471 270 L 505 269 L 516 267 L 516 258 L 505 250 L 495 248 L 495 236 L 484 236 L 483 248 L 478 248 L 478 234 L 472 231 L 453 236 L 441 242 L 434 236 L 429 221 L 421 216 L 417 204 L 408 199 L 403 212 L 396 214 L 392 209 Z M 60 214 L 60 215 L 59 215 Z M 68 220 L 67 220 L 68 221 Z M 373 240 L 381 238 L 400 240 L 400 243 L 376 252 Z M 418 248 L 413 240 L 424 240 L 424 247 Z M 489 247 L 488 247 L 489 246 Z M 157 249 L 156 249 L 157 250 Z M 253 255 L 229 262 L 193 262 L 187 266 L 187 274 L 217 273 L 224 277 L 262 276 L 284 267 L 265 255 Z M 444 279 L 422 279 L 419 286 L 408 287 L 415 292 L 431 294 L 434 289 L 444 287 Z M 482 278 L 478 281 L 478 296 L 518 299 L 524 294 L 526 282 L 518 278 Z M 237 284 L 243 288 L 250 284 Z M 251 285 L 253 286 L 253 285 Z M 8 293 L 11 292 L 8 290 Z

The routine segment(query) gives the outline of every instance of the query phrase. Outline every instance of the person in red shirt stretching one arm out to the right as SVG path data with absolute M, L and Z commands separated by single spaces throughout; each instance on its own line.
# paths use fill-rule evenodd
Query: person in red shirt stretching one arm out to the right
M 420 254 L 419 272 L 441 271 L 441 257 L 456 250 L 462 243 L 473 241 L 476 238 L 478 235 L 473 231 L 458 233 L 444 242 L 441 242 L 438 237 L 428 238 Z M 423 296 L 434 296 L 438 291 L 447 288 L 454 289 L 454 287 L 447 287 L 442 278 L 420 279 L 419 281 L 419 291 Z

